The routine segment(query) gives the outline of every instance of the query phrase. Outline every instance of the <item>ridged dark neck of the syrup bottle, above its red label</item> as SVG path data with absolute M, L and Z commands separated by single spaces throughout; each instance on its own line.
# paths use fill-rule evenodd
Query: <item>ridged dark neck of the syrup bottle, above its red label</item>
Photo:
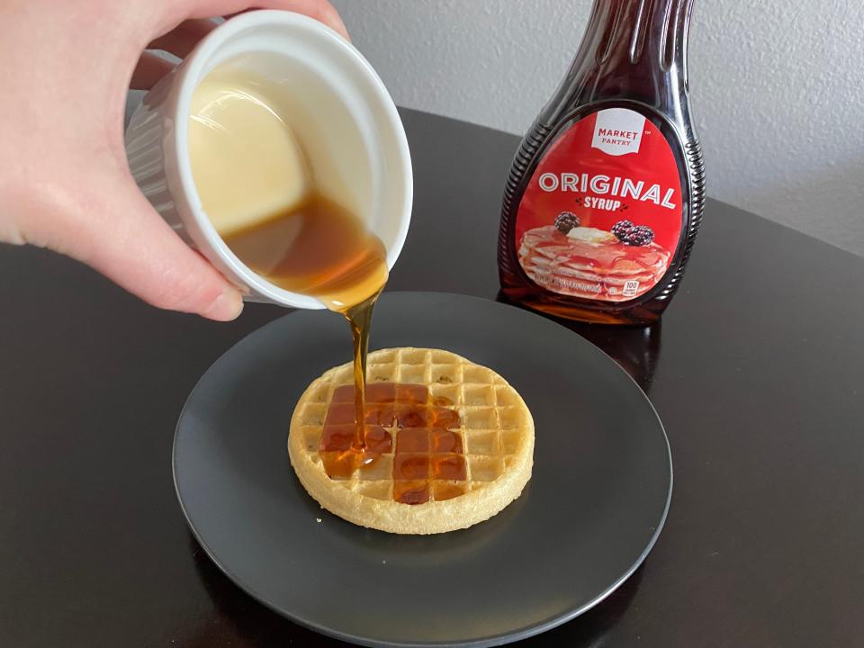
M 572 65 L 544 111 L 616 97 L 675 111 L 687 100 L 687 39 L 693 0 L 594 0 Z

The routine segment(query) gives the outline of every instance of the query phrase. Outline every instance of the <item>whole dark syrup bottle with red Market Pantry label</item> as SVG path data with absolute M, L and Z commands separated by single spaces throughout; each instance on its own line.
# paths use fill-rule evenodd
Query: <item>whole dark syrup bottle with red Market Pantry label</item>
M 658 320 L 705 203 L 690 119 L 693 0 L 595 0 L 518 148 L 501 212 L 504 296 L 572 320 Z

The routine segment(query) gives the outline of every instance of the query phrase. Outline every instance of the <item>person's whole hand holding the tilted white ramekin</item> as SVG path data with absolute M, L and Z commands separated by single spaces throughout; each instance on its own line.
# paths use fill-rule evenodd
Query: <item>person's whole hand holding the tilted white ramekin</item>
M 237 288 L 168 227 L 130 175 L 126 94 L 250 7 L 285 9 L 346 36 L 327 0 L 0 0 L 0 241 L 78 259 L 145 302 L 211 320 Z

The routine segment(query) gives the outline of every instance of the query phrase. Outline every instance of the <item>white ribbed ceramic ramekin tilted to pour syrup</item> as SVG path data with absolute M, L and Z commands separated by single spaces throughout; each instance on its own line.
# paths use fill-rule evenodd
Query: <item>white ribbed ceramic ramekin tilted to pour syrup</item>
M 256 275 L 225 245 L 202 210 L 187 153 L 194 89 L 214 67 L 230 66 L 280 85 L 287 117 L 322 193 L 365 220 L 392 267 L 408 233 L 413 179 L 396 106 L 372 66 L 347 40 L 301 14 L 255 11 L 212 31 L 145 95 L 126 130 L 135 181 L 177 234 L 238 285 L 245 299 L 320 309 Z

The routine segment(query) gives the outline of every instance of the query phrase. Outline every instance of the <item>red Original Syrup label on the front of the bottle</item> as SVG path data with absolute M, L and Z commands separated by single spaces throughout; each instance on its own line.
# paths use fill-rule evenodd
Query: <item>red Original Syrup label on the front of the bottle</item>
M 516 217 L 519 264 L 546 290 L 626 302 L 665 275 L 681 235 L 678 166 L 639 112 L 608 108 L 563 130 Z

